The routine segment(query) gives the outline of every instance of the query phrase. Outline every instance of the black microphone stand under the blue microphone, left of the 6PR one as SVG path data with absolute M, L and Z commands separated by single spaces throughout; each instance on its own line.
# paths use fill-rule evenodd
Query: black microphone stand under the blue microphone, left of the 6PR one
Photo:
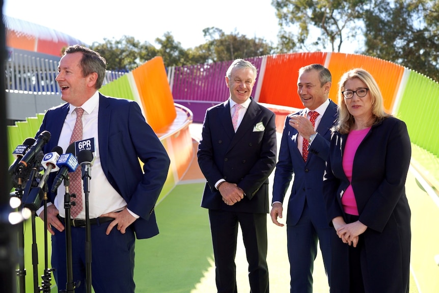
M 75 202 L 70 201 L 70 197 L 75 198 L 75 194 L 69 193 L 69 186 L 70 186 L 70 178 L 67 174 L 64 178 L 64 186 L 66 188 L 66 193 L 64 195 L 64 210 L 66 214 L 66 255 L 67 255 L 67 283 L 66 283 L 66 290 L 64 292 L 73 292 L 75 291 L 76 284 L 73 281 L 73 263 L 72 263 L 72 228 L 70 225 L 70 208 L 72 205 L 75 205 Z M 78 283 L 79 286 L 79 283 Z M 91 292 L 91 291 L 89 291 Z

